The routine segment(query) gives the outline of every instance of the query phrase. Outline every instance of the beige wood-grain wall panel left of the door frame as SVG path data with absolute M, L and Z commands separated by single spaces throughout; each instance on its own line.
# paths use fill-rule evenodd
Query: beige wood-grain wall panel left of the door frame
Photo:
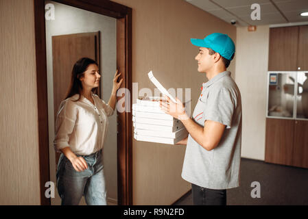
M 0 0 L 0 205 L 40 205 L 34 2 Z

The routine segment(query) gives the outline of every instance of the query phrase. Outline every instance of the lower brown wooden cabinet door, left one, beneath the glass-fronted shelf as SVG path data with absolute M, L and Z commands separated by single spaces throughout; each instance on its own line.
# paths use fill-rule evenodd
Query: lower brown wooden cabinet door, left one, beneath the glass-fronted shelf
M 294 120 L 266 119 L 265 162 L 292 165 Z

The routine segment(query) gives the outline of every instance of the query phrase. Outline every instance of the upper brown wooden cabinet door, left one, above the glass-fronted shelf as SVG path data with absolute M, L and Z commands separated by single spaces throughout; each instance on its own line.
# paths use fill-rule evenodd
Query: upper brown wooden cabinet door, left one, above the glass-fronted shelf
M 298 27 L 270 28 L 268 70 L 297 70 Z

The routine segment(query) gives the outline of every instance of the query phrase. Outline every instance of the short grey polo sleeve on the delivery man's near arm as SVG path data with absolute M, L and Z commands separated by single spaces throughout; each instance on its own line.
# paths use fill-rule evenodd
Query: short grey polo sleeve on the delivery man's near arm
M 222 88 L 209 94 L 203 115 L 205 120 L 212 120 L 226 125 L 230 129 L 235 109 L 235 101 L 230 90 Z

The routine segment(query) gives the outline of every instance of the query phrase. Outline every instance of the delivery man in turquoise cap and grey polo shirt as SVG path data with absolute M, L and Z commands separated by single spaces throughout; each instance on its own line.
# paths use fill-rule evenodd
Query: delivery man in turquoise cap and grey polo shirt
M 226 190 L 239 186 L 241 159 L 241 94 L 226 71 L 235 44 L 220 33 L 191 43 L 199 47 L 198 72 L 209 79 L 202 84 L 193 116 L 186 114 L 179 99 L 174 103 L 165 96 L 167 103 L 161 102 L 161 108 L 189 132 L 178 144 L 187 144 L 182 178 L 191 183 L 193 204 L 226 205 Z

